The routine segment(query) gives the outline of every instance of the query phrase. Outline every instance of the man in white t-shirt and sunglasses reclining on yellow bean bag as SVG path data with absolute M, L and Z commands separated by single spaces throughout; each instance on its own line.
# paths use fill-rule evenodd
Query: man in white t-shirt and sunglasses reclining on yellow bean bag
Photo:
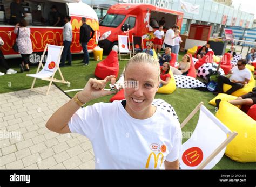
M 223 93 L 223 84 L 231 85 L 231 89 L 226 91 L 226 94 L 231 95 L 231 93 L 237 91 L 238 89 L 244 87 L 245 84 L 251 79 L 251 72 L 246 67 L 246 60 L 240 59 L 237 62 L 237 67 L 230 70 L 229 74 L 232 74 L 230 78 L 220 75 L 218 78 L 217 92 L 213 92 L 213 95 L 218 95 Z

